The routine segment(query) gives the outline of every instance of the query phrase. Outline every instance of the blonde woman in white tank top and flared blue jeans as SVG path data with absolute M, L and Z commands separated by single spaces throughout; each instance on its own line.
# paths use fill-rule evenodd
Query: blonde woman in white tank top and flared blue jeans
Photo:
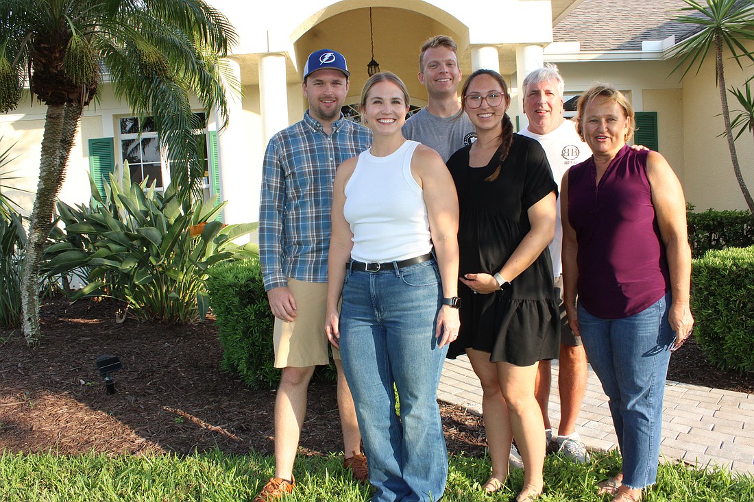
M 369 78 L 372 148 L 341 164 L 333 189 L 325 330 L 354 397 L 372 502 L 439 500 L 447 478 L 437 384 L 458 336 L 458 197 L 440 155 L 403 137 L 408 109 L 400 78 Z

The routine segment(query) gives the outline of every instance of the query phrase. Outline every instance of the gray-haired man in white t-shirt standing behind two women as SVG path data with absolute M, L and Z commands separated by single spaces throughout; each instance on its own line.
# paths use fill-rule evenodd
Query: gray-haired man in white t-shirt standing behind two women
M 529 73 L 523 81 L 523 110 L 529 119 L 529 127 L 520 132 L 523 136 L 537 139 L 553 170 L 553 178 L 560 189 L 563 174 L 569 167 L 587 160 L 592 155 L 589 146 L 576 133 L 575 123 L 563 117 L 563 89 L 565 84 L 557 66 L 545 64 L 544 68 Z M 560 203 L 557 204 L 555 237 L 550 243 L 553 259 L 555 287 L 559 289 L 562 302 L 562 264 L 560 246 L 562 226 Z M 584 443 L 576 432 L 576 420 L 587 389 L 587 354 L 581 338 L 575 336 L 568 325 L 562 308 L 562 332 L 560 337 L 558 390 L 560 393 L 560 424 L 558 434 L 553 435 L 547 403 L 550 399 L 550 361 L 540 361 L 536 395 L 544 417 L 548 451 L 562 451 L 577 462 L 589 460 Z

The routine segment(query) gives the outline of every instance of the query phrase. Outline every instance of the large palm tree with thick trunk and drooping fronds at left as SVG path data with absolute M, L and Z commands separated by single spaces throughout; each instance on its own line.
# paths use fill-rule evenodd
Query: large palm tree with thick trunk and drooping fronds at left
M 82 109 L 109 81 L 134 112 L 152 115 L 171 180 L 189 197 L 204 173 L 189 99 L 227 123 L 224 84 L 237 83 L 221 58 L 237 37 L 204 0 L 0 0 L 0 30 L 0 112 L 17 106 L 26 81 L 47 105 L 22 279 L 23 333 L 35 344 L 41 255 Z

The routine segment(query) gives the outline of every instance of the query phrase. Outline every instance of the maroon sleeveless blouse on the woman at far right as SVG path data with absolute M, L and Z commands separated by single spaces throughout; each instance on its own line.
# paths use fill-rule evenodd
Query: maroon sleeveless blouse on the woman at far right
M 569 170 L 578 301 L 595 317 L 630 317 L 670 291 L 665 245 L 647 178 L 648 153 L 624 146 L 599 185 L 593 157 Z

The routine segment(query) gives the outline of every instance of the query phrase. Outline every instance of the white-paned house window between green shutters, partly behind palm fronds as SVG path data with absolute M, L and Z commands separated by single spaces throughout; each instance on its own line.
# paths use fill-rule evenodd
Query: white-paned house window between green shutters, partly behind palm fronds
M 201 123 L 201 129 L 195 130 L 198 141 L 199 160 L 204 162 L 204 179 L 202 187 L 210 188 L 210 173 L 207 163 L 207 119 L 203 112 L 195 117 Z M 128 161 L 132 182 L 147 180 L 147 185 L 163 189 L 170 184 L 170 163 L 160 148 L 160 139 L 155 131 L 152 117 L 123 117 L 119 120 L 119 144 L 121 162 Z

